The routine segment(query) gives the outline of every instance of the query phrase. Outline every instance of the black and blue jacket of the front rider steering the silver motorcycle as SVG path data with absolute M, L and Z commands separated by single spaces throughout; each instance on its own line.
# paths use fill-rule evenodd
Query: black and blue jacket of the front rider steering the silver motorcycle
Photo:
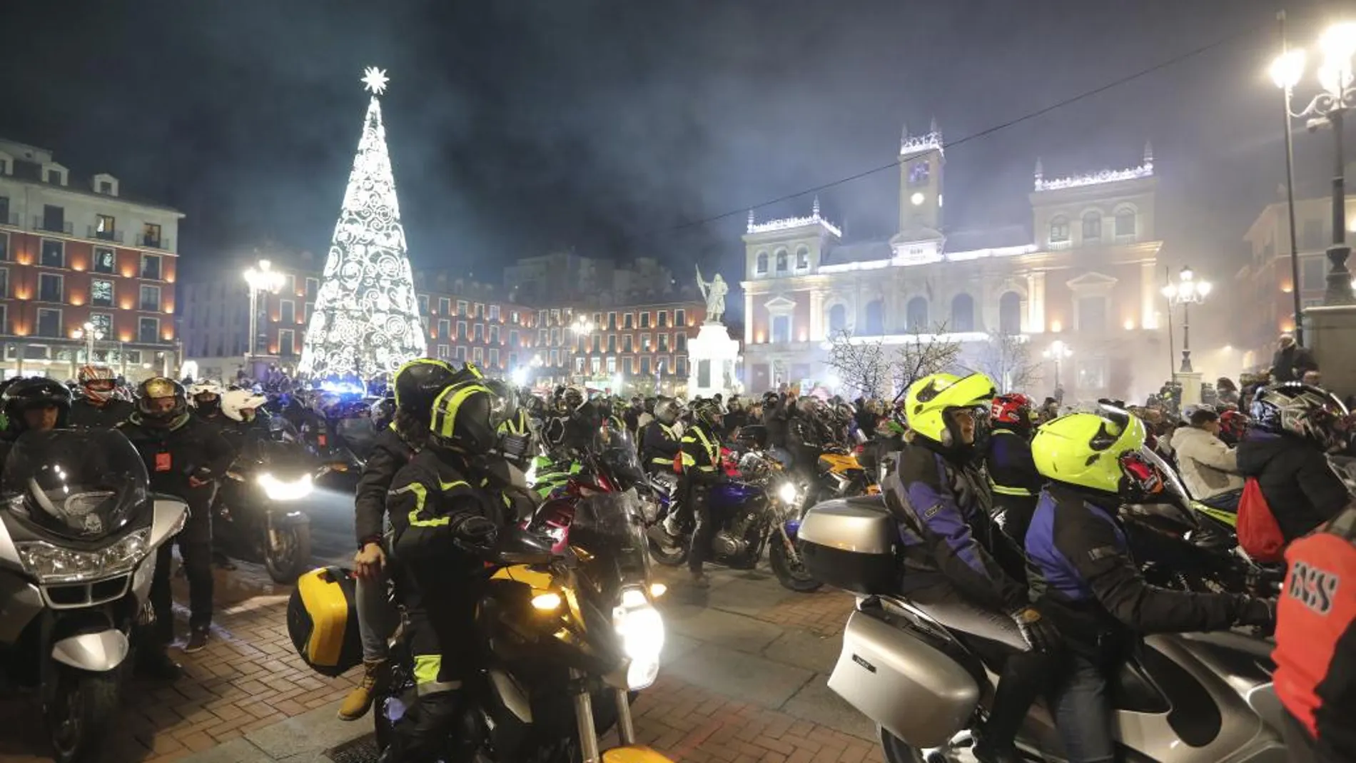
M 1066 642 L 1089 656 L 1111 655 L 1136 634 L 1222 630 L 1238 618 L 1239 596 L 1150 585 L 1116 516 L 1120 499 L 1047 485 L 1026 531 L 1035 606 Z

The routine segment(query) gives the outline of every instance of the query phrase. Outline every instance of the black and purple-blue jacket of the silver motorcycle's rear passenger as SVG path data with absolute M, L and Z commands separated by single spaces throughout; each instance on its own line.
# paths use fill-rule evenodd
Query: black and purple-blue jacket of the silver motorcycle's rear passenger
M 1028 606 L 1021 550 L 990 516 L 993 495 L 976 465 L 907 443 L 883 492 L 899 522 L 904 592 L 945 581 L 976 606 Z

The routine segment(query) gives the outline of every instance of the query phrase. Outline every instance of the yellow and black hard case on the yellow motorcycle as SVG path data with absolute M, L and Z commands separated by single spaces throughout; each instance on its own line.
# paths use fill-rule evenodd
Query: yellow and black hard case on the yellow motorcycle
M 347 569 L 323 566 L 297 579 L 287 600 L 287 636 L 313 671 L 336 676 L 362 664 L 357 583 Z

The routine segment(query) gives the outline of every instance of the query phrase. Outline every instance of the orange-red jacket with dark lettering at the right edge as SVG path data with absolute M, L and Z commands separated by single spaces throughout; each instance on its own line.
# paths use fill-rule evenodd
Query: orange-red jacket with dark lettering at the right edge
M 1309 732 L 1318 760 L 1356 760 L 1356 511 L 1285 550 L 1276 611 L 1276 697 Z M 1298 758 L 1296 758 L 1298 759 Z

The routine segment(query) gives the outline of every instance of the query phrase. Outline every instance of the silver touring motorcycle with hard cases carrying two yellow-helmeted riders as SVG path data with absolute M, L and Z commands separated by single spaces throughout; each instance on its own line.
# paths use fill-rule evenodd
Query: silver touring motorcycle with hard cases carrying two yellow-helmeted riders
M 876 724 L 890 763 L 968 760 L 968 729 L 998 675 L 975 645 L 999 637 L 968 610 L 898 595 L 896 538 L 876 496 L 822 503 L 801 523 L 811 573 L 857 596 L 829 688 Z M 1237 632 L 1146 637 L 1113 682 L 1120 745 L 1135 760 L 1159 763 L 1285 760 L 1269 652 L 1267 641 Z M 1063 758 L 1041 703 L 1017 745 L 1031 759 Z

